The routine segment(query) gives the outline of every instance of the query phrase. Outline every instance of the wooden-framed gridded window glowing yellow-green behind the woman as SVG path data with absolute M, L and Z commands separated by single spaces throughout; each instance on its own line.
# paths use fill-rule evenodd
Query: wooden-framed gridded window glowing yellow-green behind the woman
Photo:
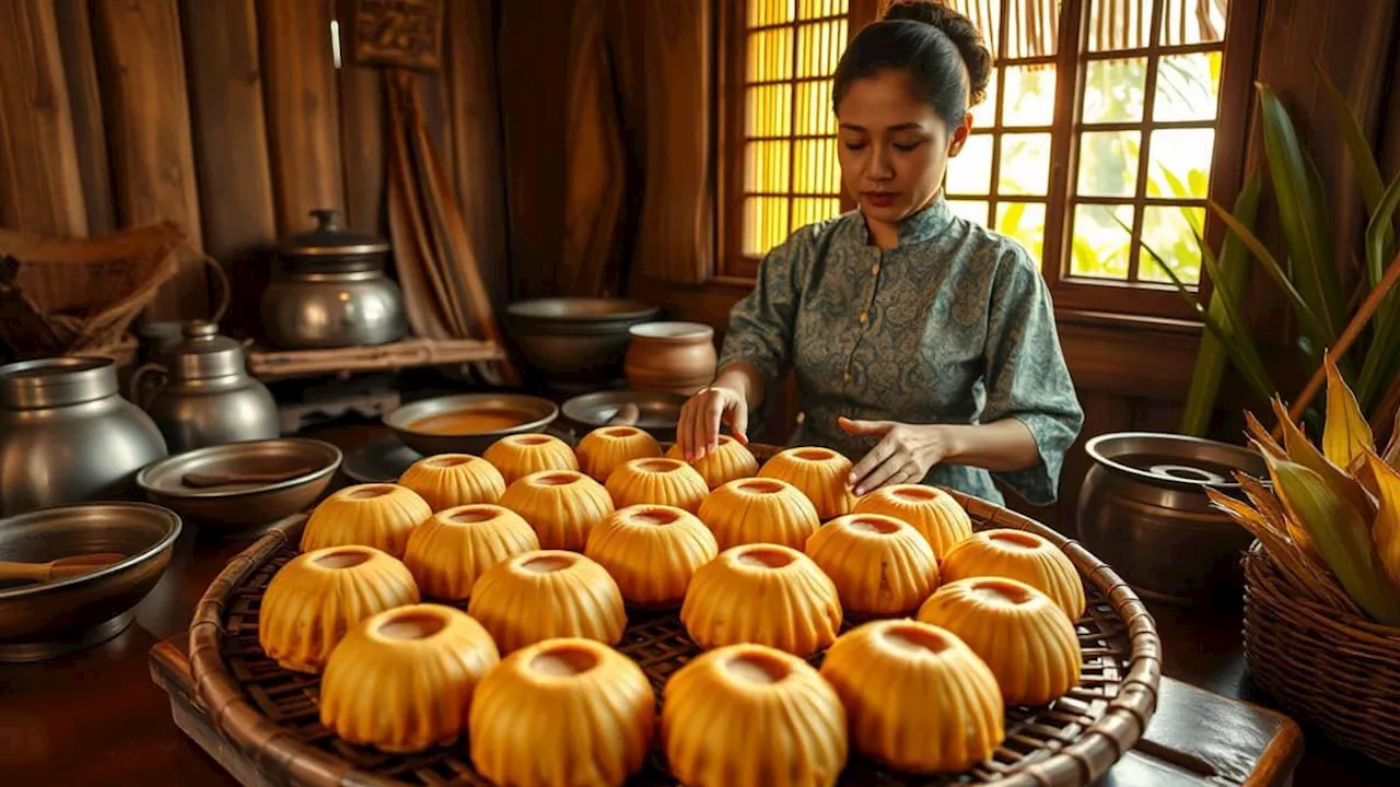
M 1242 179 L 1239 148 L 1253 102 L 1249 71 L 1257 0 L 948 1 L 983 31 L 995 64 L 987 99 L 973 108 L 973 136 L 948 169 L 945 192 L 953 210 L 1021 241 L 1043 262 L 1057 305 L 1193 316 L 1142 244 L 1183 280 L 1200 280 L 1196 238 L 1203 232 L 1219 237 L 1205 200 L 1231 204 Z M 798 17 L 808 4 L 739 3 L 749 27 L 743 38 L 731 38 L 746 42 L 735 59 L 750 67 L 752 29 L 763 27 L 759 18 L 801 25 Z M 847 11 L 847 29 L 854 32 L 878 17 L 888 0 L 830 4 L 840 8 L 823 13 Z M 794 6 L 797 15 L 784 17 Z M 755 15 L 755 8 L 764 15 Z M 1247 29 L 1236 32 L 1235 27 Z M 1228 29 L 1236 35 L 1226 36 Z M 836 59 L 839 52 L 832 67 Z M 1239 63 L 1236 73 L 1226 74 L 1231 63 Z M 804 127 L 834 132 L 829 87 L 808 90 L 825 101 L 823 113 Z M 792 127 L 791 120 L 783 125 L 767 113 L 769 104 L 760 99 L 735 106 L 748 127 L 773 123 L 774 136 Z M 1218 137 L 1229 144 L 1217 144 Z M 780 144 L 795 150 L 795 143 Z M 725 192 L 735 206 L 729 227 L 738 230 L 729 234 L 742 237 L 727 248 L 727 272 L 736 276 L 752 274 L 763 251 L 792 228 L 848 207 L 839 196 L 833 141 L 804 148 L 822 155 L 829 150 L 825 162 L 794 155 L 787 168 L 774 169 L 748 150 L 746 186 L 769 188 L 802 168 L 820 172 L 829 190 L 822 192 L 820 210 L 788 207 L 787 216 L 781 209 L 802 197 L 774 202 L 771 209 L 750 207 L 748 200 L 762 197 L 746 190 L 739 209 L 739 195 Z M 795 193 L 801 188 L 777 199 Z

